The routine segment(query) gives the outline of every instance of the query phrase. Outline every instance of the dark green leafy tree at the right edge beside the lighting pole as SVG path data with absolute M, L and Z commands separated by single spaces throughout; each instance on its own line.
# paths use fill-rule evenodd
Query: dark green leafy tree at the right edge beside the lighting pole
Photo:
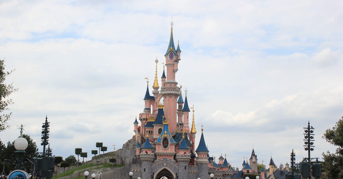
M 323 172 L 328 178 L 343 178 L 343 117 L 339 119 L 332 129 L 327 129 L 322 136 L 327 142 L 338 146 L 335 153 L 327 151 L 323 155 Z

